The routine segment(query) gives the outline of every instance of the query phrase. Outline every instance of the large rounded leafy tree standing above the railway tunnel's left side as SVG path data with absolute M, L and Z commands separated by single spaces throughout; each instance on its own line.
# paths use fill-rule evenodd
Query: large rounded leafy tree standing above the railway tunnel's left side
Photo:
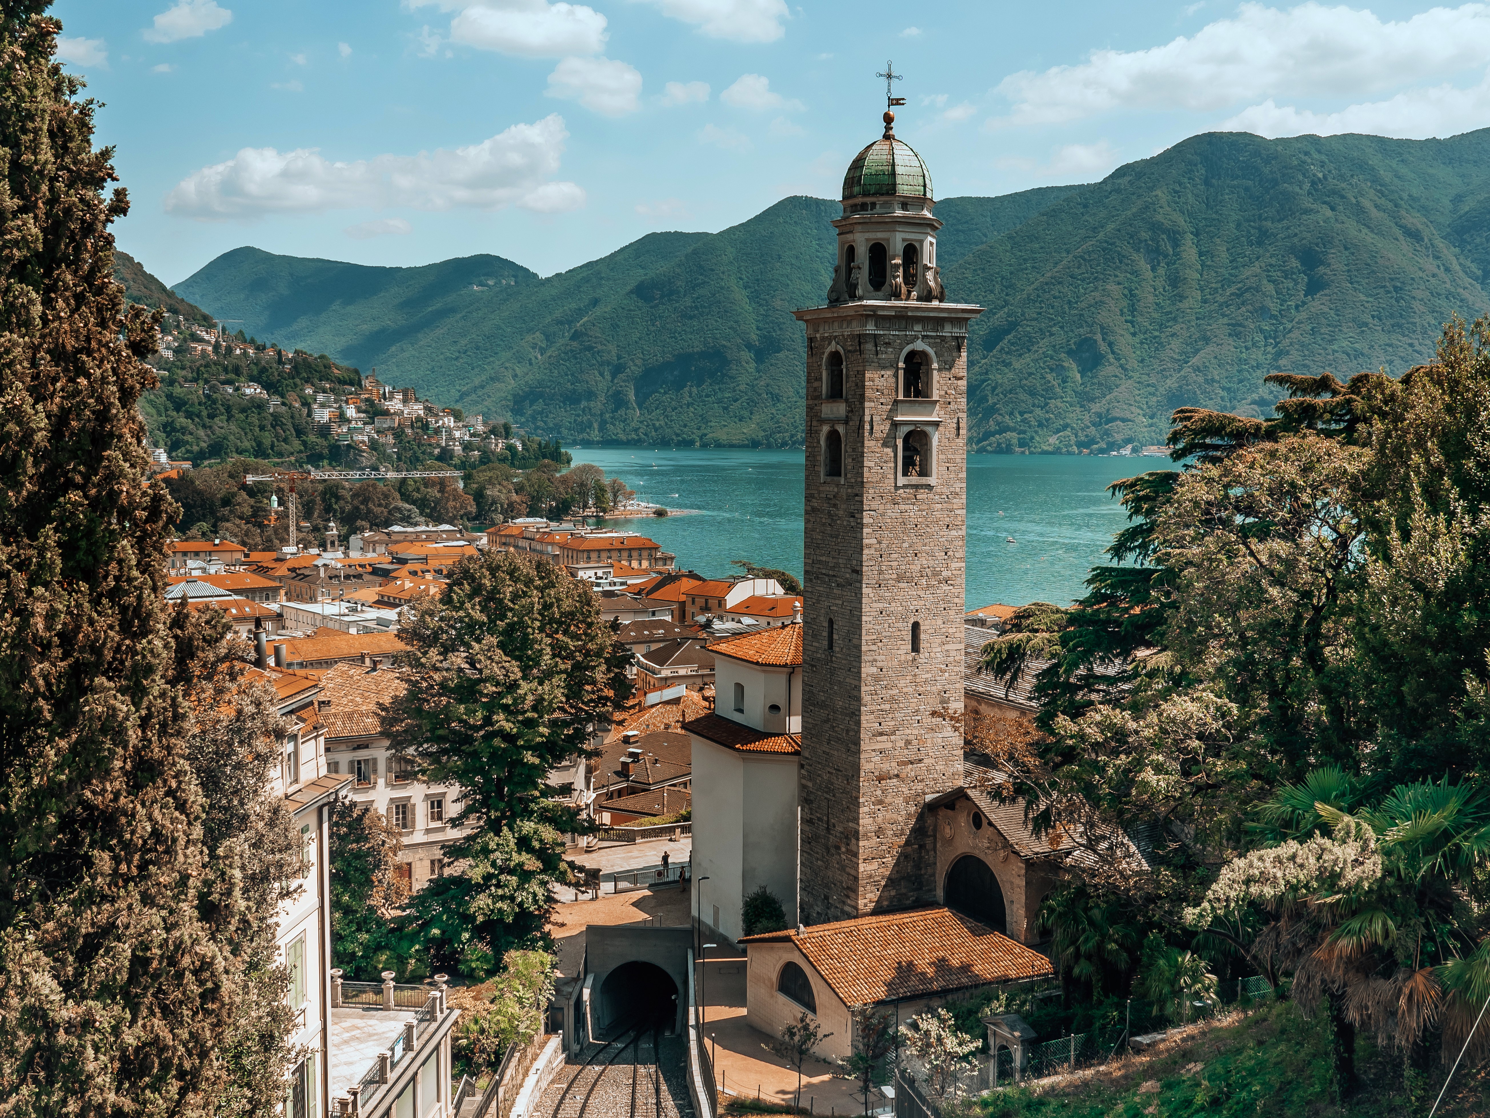
M 548 771 L 584 753 L 629 695 L 626 648 L 599 599 L 562 568 L 510 552 L 465 559 L 402 629 L 408 686 L 393 742 L 429 780 L 459 784 L 454 872 L 429 882 L 413 932 L 472 976 L 544 938 L 551 885 L 566 881 L 577 812 L 544 795 Z

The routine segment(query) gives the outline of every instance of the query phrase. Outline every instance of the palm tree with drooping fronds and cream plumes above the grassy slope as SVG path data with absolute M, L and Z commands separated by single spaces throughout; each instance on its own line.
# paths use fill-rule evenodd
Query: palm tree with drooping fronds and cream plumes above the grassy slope
M 1362 792 L 1340 769 L 1280 789 L 1258 812 L 1266 845 L 1228 863 L 1186 914 L 1204 926 L 1247 905 L 1266 912 L 1250 954 L 1293 975 L 1302 1009 L 1328 1003 L 1344 1097 L 1357 1029 L 1411 1051 L 1445 1011 L 1462 1036 L 1490 994 L 1490 948 L 1466 903 L 1490 863 L 1490 800 L 1447 777 L 1357 806 Z

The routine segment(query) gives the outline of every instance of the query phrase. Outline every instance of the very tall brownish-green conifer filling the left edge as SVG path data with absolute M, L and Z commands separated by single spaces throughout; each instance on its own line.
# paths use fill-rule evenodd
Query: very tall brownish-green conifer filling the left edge
M 45 10 L 0 3 L 0 1108 L 206 1114 L 247 909 L 180 744 L 137 411 L 158 313 L 112 280 L 128 200 Z

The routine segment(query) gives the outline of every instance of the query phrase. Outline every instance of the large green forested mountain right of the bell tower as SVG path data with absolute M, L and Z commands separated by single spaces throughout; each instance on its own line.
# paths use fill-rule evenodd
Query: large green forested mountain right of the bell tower
M 1186 404 L 1271 408 L 1274 371 L 1402 373 L 1490 309 L 1490 130 L 1192 137 L 946 270 L 973 446 L 1156 443 Z

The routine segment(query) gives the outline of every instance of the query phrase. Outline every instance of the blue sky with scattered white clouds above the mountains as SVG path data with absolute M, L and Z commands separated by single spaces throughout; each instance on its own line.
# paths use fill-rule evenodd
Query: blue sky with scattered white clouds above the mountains
M 1091 182 L 1199 131 L 1490 124 L 1490 6 L 63 0 L 104 101 L 121 247 L 176 283 L 240 244 L 542 274 L 653 230 L 836 197 L 897 134 L 937 197 Z

